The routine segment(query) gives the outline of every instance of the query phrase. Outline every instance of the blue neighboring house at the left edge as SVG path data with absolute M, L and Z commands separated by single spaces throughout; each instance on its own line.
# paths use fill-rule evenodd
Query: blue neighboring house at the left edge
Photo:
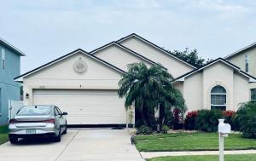
M 14 81 L 20 75 L 20 56 L 25 54 L 0 38 L 0 125 L 8 123 L 9 100 L 20 101 L 20 83 Z

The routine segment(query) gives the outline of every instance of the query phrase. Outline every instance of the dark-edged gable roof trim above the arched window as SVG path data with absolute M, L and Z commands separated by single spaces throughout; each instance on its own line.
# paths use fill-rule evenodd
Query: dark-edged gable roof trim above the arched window
M 240 73 L 241 75 L 243 75 L 244 77 L 247 77 L 250 79 L 250 82 L 256 82 L 256 78 L 254 78 L 253 76 L 251 76 L 250 74 L 248 74 L 247 72 L 243 72 L 240 67 L 234 65 L 233 63 L 230 63 L 230 61 L 224 60 L 223 58 L 218 58 L 216 60 L 212 60 L 211 62 L 207 63 L 204 66 L 201 66 L 200 68 L 197 68 L 191 72 L 187 72 L 185 74 L 183 74 L 182 76 L 175 78 L 173 80 L 173 82 L 176 81 L 184 81 L 184 78 L 189 77 L 190 75 L 194 74 L 195 72 L 200 72 L 201 70 L 207 68 L 208 66 L 212 66 L 213 64 L 217 63 L 217 62 L 223 62 L 225 65 L 232 67 L 234 70 L 236 70 L 236 72 Z

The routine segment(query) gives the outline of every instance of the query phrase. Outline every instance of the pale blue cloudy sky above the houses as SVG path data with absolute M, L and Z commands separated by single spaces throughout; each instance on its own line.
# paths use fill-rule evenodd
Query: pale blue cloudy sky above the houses
M 26 53 L 21 73 L 133 32 L 165 49 L 197 49 L 205 59 L 256 42 L 252 0 L 0 0 L 0 6 L 0 37 Z

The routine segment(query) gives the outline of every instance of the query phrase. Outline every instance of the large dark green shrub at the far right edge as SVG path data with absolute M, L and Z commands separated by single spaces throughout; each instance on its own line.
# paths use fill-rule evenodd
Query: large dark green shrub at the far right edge
M 239 123 L 243 137 L 256 138 L 256 102 L 242 103 L 236 112 L 236 122 Z

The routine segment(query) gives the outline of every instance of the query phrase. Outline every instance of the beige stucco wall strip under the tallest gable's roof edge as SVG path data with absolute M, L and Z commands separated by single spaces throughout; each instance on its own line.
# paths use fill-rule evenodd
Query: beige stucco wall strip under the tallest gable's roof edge
M 147 43 L 143 43 L 141 40 L 138 40 L 135 37 L 131 37 L 121 42 L 121 44 L 136 51 L 138 54 L 143 55 L 150 60 L 154 60 L 155 62 L 160 63 L 162 66 L 165 66 L 168 69 L 168 72 L 170 72 L 174 78 L 193 70 L 191 66 L 184 64 L 182 61 L 177 60 L 170 55 L 166 55 L 159 49 L 155 49 L 154 47 L 149 46 Z

